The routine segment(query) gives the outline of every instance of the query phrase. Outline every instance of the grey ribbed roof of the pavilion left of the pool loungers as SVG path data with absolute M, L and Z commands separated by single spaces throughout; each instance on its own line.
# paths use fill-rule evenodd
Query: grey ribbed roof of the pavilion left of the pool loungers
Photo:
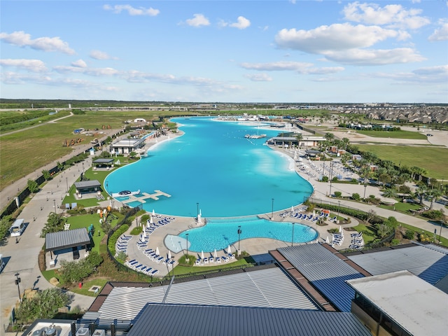
M 90 236 L 88 235 L 86 228 L 52 232 L 45 235 L 46 251 L 55 251 L 62 248 L 87 244 L 90 244 Z

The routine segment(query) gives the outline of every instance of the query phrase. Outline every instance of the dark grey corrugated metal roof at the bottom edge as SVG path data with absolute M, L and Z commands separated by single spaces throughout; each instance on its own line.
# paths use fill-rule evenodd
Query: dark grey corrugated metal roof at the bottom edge
M 127 336 L 367 336 L 350 313 L 223 307 L 190 304 L 147 304 Z

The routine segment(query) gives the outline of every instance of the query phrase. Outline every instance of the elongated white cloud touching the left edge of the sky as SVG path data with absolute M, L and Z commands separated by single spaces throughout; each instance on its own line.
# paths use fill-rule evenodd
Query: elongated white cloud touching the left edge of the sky
M 20 47 L 29 47 L 35 50 L 57 51 L 64 54 L 73 55 L 75 50 L 69 48 L 69 43 L 61 40 L 59 37 L 39 37 L 31 39 L 30 34 L 25 31 L 14 31 L 11 34 L 0 33 L 0 40 Z

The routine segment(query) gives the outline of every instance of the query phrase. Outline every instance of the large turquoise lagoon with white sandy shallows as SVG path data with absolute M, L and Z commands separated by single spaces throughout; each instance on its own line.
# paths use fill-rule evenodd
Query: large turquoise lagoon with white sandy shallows
M 203 218 L 270 214 L 311 195 L 311 184 L 297 175 L 293 160 L 264 146 L 266 139 L 281 131 L 214 118 L 172 121 L 182 124 L 185 134 L 163 141 L 147 157 L 109 174 L 105 181 L 109 193 L 162 190 L 172 197 L 132 205 L 190 217 L 196 217 L 199 208 Z M 257 133 L 267 138 L 244 138 Z

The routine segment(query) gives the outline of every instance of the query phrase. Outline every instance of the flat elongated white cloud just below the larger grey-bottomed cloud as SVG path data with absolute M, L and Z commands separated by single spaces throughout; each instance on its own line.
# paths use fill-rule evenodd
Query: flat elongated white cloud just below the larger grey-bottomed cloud
M 426 58 L 411 48 L 390 50 L 350 49 L 325 52 L 325 57 L 335 62 L 352 65 L 385 65 L 409 62 L 421 62 Z

